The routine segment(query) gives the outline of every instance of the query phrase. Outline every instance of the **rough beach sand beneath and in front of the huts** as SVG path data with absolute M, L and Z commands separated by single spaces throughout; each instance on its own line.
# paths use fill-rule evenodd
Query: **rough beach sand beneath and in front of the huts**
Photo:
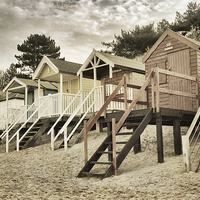
M 76 177 L 84 166 L 83 142 L 67 151 L 51 151 L 48 142 L 0 153 L 0 199 L 200 199 L 200 172 L 185 172 L 182 155 L 174 156 L 172 128 L 163 132 L 164 163 L 157 163 L 155 126 L 148 126 L 142 152 L 131 150 L 117 176 L 103 180 Z M 89 133 L 89 155 L 105 136 Z

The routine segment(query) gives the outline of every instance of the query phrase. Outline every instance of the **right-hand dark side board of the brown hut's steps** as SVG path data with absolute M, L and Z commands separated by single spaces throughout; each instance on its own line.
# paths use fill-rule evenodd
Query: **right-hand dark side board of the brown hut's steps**
M 117 169 L 119 166 L 122 164 L 123 160 L 126 158 L 128 155 L 129 151 L 131 148 L 135 145 L 137 140 L 139 139 L 140 135 L 143 133 L 144 129 L 146 126 L 149 124 L 151 119 L 153 118 L 153 108 L 149 110 L 149 112 L 146 114 L 140 125 L 137 127 L 137 129 L 134 131 L 133 135 L 130 137 L 128 140 L 127 144 L 123 147 L 119 155 L 117 156 Z M 109 177 L 113 175 L 113 166 L 111 165 L 107 172 L 105 173 L 103 178 Z

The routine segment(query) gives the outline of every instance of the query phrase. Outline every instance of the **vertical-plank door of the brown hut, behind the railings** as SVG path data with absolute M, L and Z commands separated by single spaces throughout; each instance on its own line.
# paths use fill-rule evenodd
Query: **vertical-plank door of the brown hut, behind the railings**
M 168 67 L 172 72 L 190 75 L 189 49 L 168 54 Z M 169 76 L 169 89 L 191 93 L 191 81 Z M 178 95 L 170 95 L 170 108 L 192 110 L 192 99 Z

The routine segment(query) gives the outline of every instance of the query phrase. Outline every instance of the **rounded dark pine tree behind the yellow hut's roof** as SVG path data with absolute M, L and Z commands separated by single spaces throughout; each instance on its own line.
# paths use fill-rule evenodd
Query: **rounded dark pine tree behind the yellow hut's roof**
M 17 45 L 17 50 L 22 54 L 15 57 L 18 60 L 16 67 L 22 71 L 33 73 L 44 55 L 51 58 L 60 57 L 60 47 L 55 45 L 55 41 L 45 35 L 31 34 L 21 45 Z

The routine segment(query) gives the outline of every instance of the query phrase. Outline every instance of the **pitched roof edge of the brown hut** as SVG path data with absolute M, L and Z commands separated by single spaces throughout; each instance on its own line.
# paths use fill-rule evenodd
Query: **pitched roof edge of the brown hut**
M 142 62 L 145 63 L 148 58 L 151 56 L 151 54 L 157 49 L 158 45 L 160 43 L 162 43 L 162 41 L 167 37 L 167 36 L 171 36 L 177 40 L 179 40 L 180 42 L 188 45 L 189 47 L 191 47 L 192 49 L 195 50 L 199 50 L 200 47 L 200 42 L 190 39 L 188 37 L 185 37 L 183 35 L 180 35 L 177 32 L 172 31 L 171 29 L 167 28 L 164 33 L 160 36 L 160 38 L 156 41 L 156 43 L 151 47 L 151 49 L 147 52 L 147 54 L 143 57 Z

